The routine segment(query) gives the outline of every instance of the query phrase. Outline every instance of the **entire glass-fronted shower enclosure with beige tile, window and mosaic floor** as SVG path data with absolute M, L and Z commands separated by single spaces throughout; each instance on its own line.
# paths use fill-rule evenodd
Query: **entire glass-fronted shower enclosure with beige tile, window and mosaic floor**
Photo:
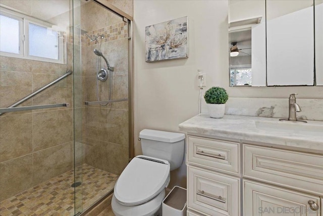
M 125 4 L 0 2 L 0 215 L 78 215 L 112 193 L 133 154 Z

